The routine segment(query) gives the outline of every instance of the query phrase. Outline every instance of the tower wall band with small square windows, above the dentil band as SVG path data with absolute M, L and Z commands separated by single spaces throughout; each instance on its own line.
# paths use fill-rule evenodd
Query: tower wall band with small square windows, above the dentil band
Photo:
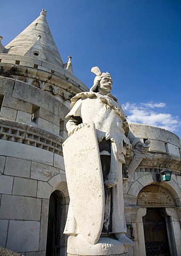
M 33 85 L 6 77 L 0 77 L 0 93 L 0 117 L 67 137 L 65 116 L 69 109 L 58 98 Z

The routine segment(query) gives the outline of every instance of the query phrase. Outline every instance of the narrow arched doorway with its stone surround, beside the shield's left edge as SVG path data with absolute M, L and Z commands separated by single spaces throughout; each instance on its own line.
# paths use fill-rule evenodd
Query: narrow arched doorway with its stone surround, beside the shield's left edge
M 47 218 L 46 256 L 65 255 L 66 252 L 67 237 L 63 232 L 66 222 L 67 206 L 70 199 L 65 180 L 65 173 L 61 173 L 55 175 L 48 181 L 49 185 L 53 187 L 53 189 L 50 194 L 49 214 Z M 52 223 L 53 227 L 51 227 L 50 223 Z

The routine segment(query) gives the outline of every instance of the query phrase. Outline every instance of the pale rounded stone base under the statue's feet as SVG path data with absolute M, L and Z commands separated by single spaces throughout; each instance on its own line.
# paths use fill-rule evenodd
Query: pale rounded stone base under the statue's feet
M 97 244 L 91 245 L 81 234 L 68 237 L 67 241 L 68 256 L 123 256 L 127 255 L 127 246 L 117 239 L 111 237 L 100 237 Z

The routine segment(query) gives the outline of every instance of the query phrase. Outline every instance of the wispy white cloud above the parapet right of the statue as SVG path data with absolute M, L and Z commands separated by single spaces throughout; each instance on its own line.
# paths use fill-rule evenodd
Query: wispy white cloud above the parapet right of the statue
M 160 108 L 166 107 L 163 102 L 136 103 L 126 102 L 123 108 L 127 114 L 129 123 L 141 123 L 161 127 L 171 132 L 176 132 L 181 127 L 178 117 L 169 113 L 160 113 Z M 159 108 L 159 109 L 157 109 Z M 153 110 L 154 109 L 154 110 Z

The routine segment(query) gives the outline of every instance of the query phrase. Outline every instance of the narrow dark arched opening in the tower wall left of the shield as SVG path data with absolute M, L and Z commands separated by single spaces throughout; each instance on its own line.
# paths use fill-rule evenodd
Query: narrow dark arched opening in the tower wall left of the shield
M 46 256 L 59 256 L 61 250 L 62 196 L 55 190 L 50 195 Z

